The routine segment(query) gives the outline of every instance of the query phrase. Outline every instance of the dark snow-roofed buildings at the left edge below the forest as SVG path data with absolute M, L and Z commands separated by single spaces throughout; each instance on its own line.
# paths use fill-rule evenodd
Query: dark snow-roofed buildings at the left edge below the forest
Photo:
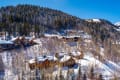
M 16 37 L 12 38 L 10 40 L 5 40 L 3 38 L 0 38 L 0 51 L 3 50 L 10 50 L 20 47 L 27 47 L 36 44 L 34 42 L 34 39 L 31 37 Z

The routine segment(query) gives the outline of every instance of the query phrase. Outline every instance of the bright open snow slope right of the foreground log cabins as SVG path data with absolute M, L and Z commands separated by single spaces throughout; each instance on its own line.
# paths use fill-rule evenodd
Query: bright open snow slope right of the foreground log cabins
M 81 64 L 83 72 L 88 71 L 87 69 L 90 69 L 91 67 L 94 67 L 94 72 L 102 74 L 105 80 L 114 78 L 114 75 L 120 77 L 118 76 L 120 74 L 120 66 L 112 61 L 106 60 L 105 62 L 101 62 L 94 56 L 85 55 L 82 60 L 78 61 L 78 63 Z M 85 67 L 86 69 L 84 69 Z

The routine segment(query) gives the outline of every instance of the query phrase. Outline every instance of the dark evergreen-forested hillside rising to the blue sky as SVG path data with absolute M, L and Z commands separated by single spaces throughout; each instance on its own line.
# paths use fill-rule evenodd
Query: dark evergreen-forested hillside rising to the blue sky
M 0 31 L 9 34 L 37 35 L 45 32 L 61 32 L 65 29 L 83 30 L 91 34 L 94 40 L 104 41 L 108 38 L 119 38 L 115 26 L 107 20 L 100 22 L 84 20 L 58 10 L 33 5 L 17 5 L 0 8 Z

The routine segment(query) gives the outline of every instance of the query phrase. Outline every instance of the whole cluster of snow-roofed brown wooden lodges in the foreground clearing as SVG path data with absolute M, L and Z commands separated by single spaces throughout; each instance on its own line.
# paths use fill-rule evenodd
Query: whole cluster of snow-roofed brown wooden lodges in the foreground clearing
M 77 63 L 76 60 L 83 58 L 82 52 L 72 53 L 56 53 L 52 56 L 40 56 L 29 60 L 29 68 L 33 69 L 47 69 L 47 68 L 72 68 Z

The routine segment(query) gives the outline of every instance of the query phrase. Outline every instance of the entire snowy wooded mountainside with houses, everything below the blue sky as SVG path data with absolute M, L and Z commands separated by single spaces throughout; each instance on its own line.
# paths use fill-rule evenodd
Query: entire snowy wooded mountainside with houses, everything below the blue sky
M 0 80 L 120 80 L 119 25 L 34 5 L 1 7 Z

